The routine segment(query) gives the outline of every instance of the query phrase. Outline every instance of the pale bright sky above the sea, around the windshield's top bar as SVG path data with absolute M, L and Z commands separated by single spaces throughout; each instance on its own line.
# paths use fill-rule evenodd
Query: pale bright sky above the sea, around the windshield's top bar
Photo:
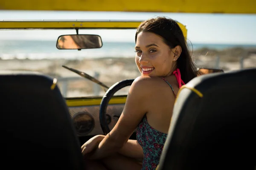
M 256 14 L 189 14 L 189 13 L 139 13 L 139 12 L 87 12 L 87 11 L 1 11 L 1 20 L 146 20 L 151 17 L 166 16 L 186 25 L 188 39 L 192 43 L 210 44 L 251 44 L 256 45 Z M 33 38 L 40 31 L 1 31 L 0 40 L 16 37 Z M 26 31 L 28 32 L 28 31 Z M 74 30 L 56 31 L 48 38 L 55 39 L 56 33 L 76 34 Z M 85 30 L 79 33 L 87 33 Z M 91 30 L 102 40 L 134 41 L 135 30 Z M 113 36 L 115 35 L 115 36 Z M 132 37 L 132 38 L 131 38 Z M 45 38 L 45 36 L 42 36 Z

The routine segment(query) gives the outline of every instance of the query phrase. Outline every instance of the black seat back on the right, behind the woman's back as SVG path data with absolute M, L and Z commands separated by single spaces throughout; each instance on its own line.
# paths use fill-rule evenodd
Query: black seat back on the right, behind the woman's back
M 255 170 L 256 68 L 203 75 L 184 87 L 157 170 Z

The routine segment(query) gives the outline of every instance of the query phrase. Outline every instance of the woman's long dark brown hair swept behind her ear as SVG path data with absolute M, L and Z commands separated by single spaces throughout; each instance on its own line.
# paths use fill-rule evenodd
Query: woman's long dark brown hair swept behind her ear
M 187 83 L 197 77 L 198 71 L 186 45 L 186 40 L 175 20 L 166 17 L 156 17 L 143 21 L 137 28 L 135 43 L 140 32 L 152 32 L 163 37 L 164 42 L 170 48 L 180 45 L 182 52 L 177 59 L 177 68 L 180 69 L 181 79 Z

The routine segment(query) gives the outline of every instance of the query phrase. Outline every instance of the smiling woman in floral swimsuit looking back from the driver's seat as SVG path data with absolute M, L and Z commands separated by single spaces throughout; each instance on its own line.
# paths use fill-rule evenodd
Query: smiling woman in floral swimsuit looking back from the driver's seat
M 102 169 L 154 170 L 166 141 L 176 94 L 198 74 L 174 20 L 157 17 L 142 22 L 135 42 L 135 62 L 141 76 L 132 83 L 113 130 L 81 147 L 85 158 L 97 161 L 87 160 L 88 167 L 101 162 Z M 137 140 L 129 140 L 136 128 Z M 142 164 L 138 159 L 143 159 Z

